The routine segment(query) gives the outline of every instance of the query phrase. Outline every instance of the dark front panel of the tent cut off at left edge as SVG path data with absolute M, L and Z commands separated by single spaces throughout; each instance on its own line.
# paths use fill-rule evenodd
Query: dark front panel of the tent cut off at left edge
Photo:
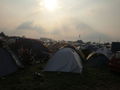
M 10 53 L 3 48 L 0 48 L 0 76 L 5 76 L 15 72 L 18 69 L 15 61 Z

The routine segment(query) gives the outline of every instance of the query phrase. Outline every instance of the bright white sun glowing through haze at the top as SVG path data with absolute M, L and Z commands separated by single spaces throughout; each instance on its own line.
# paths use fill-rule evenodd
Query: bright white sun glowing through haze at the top
M 44 0 L 43 6 L 49 11 L 54 11 L 58 8 L 58 1 L 57 0 Z

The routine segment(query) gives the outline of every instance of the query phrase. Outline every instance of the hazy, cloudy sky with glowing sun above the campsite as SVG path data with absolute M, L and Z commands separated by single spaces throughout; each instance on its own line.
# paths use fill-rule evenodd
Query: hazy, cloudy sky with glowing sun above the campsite
M 55 40 L 119 41 L 119 9 L 120 0 L 0 0 L 0 32 Z

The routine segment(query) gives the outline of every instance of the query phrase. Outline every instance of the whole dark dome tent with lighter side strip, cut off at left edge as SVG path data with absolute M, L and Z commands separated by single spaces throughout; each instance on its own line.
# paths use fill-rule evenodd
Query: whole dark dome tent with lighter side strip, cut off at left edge
M 18 68 L 24 68 L 11 49 L 0 40 L 0 77 L 16 72 Z

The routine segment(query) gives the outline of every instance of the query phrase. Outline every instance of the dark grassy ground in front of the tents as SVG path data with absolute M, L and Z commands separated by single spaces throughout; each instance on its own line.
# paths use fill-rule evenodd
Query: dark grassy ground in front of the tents
M 34 75 L 35 71 L 41 76 Z M 41 72 L 41 65 L 27 66 L 0 78 L 0 90 L 120 90 L 120 75 L 107 68 L 86 67 L 80 75 Z

